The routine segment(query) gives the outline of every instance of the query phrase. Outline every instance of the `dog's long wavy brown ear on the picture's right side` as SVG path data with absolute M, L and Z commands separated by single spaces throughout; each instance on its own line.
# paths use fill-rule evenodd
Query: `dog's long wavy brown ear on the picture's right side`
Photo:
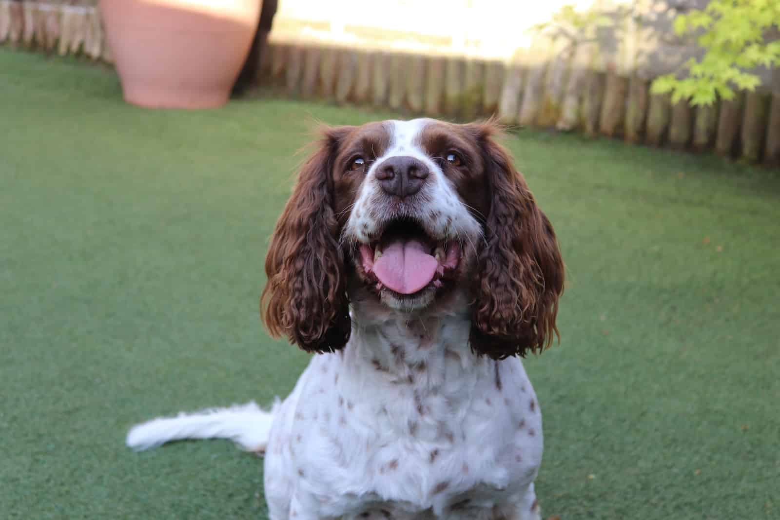
M 477 250 L 470 345 L 494 359 L 541 352 L 558 335 L 555 316 L 565 267 L 548 218 L 495 142 L 492 123 L 477 133 L 491 208 Z

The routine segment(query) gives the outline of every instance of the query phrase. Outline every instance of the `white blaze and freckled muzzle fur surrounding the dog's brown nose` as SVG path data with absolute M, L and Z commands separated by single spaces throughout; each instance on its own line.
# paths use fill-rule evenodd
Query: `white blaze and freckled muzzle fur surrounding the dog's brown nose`
M 425 231 L 436 239 L 473 240 L 481 234 L 479 223 L 460 200 L 456 186 L 447 179 L 438 163 L 422 145 L 424 129 L 434 119 L 410 121 L 392 119 L 385 122 L 390 144 L 385 153 L 376 157 L 366 173 L 366 179 L 349 214 L 344 229 L 345 239 L 367 244 L 378 239 L 385 221 L 396 217 L 415 218 Z M 445 150 L 441 150 L 443 154 Z M 377 168 L 389 157 L 414 157 L 427 165 L 431 175 L 423 189 L 409 201 L 389 209 L 390 199 L 376 180 Z

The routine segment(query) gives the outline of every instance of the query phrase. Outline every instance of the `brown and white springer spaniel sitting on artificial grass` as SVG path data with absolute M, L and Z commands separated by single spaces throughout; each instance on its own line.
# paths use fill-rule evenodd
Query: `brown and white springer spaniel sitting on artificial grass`
M 541 412 L 518 356 L 557 334 L 564 266 L 491 122 L 324 130 L 276 229 L 264 322 L 317 352 L 271 412 L 155 419 L 145 449 L 264 451 L 271 520 L 540 518 Z

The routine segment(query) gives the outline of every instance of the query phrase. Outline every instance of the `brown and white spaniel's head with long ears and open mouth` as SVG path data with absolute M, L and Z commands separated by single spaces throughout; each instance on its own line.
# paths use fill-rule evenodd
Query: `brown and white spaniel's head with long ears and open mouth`
M 474 352 L 548 346 L 561 253 L 497 134 L 432 119 L 325 129 L 268 251 L 271 334 L 332 352 L 349 339 L 350 299 L 420 313 L 460 292 Z

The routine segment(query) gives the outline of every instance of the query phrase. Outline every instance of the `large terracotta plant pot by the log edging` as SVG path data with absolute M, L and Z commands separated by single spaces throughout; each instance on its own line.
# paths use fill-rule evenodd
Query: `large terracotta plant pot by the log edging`
M 262 0 L 101 0 L 125 101 L 148 108 L 225 104 Z

